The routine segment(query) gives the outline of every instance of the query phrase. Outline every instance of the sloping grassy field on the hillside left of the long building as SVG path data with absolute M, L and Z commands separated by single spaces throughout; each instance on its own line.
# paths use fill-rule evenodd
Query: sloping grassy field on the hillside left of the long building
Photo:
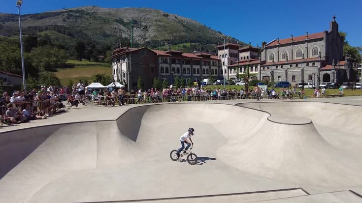
M 69 79 L 74 83 L 78 80 L 87 80 L 89 84 L 92 83 L 91 78 L 96 74 L 107 74 L 111 75 L 111 68 L 106 63 L 98 63 L 92 61 L 77 61 L 68 60 L 67 64 L 72 64 L 72 68 L 57 68 L 55 75 L 60 79 L 62 85 L 66 86 Z

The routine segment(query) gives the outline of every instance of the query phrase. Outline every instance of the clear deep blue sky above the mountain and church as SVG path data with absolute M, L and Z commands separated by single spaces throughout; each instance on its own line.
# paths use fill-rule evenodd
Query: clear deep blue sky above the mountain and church
M 16 13 L 16 0 L 0 0 L 0 12 Z M 352 46 L 362 46 L 362 0 L 24 0 L 22 13 L 97 5 L 149 7 L 197 20 L 253 45 L 329 30 L 336 16 Z

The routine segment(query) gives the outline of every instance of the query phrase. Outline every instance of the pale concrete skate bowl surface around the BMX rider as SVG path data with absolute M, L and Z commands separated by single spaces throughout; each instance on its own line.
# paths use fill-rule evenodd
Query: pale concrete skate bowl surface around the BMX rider
M 0 150 L 11 152 L 1 153 L 7 174 L 0 179 L 0 202 L 154 200 L 361 185 L 361 159 L 300 120 L 281 124 L 248 108 L 182 103 L 134 107 L 110 121 L 2 133 Z M 196 166 L 169 158 L 190 126 L 196 129 Z M 263 198 L 245 202 L 273 199 Z

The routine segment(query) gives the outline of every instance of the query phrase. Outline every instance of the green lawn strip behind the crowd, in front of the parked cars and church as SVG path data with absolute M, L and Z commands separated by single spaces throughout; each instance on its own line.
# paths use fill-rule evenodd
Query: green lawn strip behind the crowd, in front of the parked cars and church
M 220 89 L 223 89 L 224 86 L 223 85 L 220 85 L 220 86 L 205 86 L 204 88 L 210 88 L 210 89 L 214 89 L 214 88 L 220 88 Z M 244 89 L 244 86 L 236 86 L 236 85 L 227 85 L 226 86 L 226 89 L 237 89 L 237 90 L 240 90 L 241 88 Z M 249 87 L 249 89 L 251 88 L 254 88 L 254 87 Z M 269 89 L 271 89 L 269 87 Z M 281 92 L 281 89 L 282 88 L 274 88 L 275 91 L 277 92 Z M 297 91 L 299 91 L 299 89 L 297 89 Z M 304 89 L 304 92 L 305 92 L 305 96 L 306 97 L 312 97 L 313 96 L 313 91 L 314 89 Z M 344 89 L 343 90 L 343 93 L 344 95 L 346 96 L 351 96 L 351 95 L 362 95 L 362 91 L 361 89 L 354 89 L 352 91 L 352 89 Z M 338 94 L 338 89 L 326 89 L 326 95 L 328 94 Z

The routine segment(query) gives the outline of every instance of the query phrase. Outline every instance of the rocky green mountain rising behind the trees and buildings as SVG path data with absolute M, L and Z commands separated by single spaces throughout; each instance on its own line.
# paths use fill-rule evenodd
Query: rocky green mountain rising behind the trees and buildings
M 18 35 L 18 15 L 0 13 L 0 33 Z M 133 25 L 134 46 L 163 47 L 192 43 L 193 48 L 210 49 L 223 41 L 223 34 L 195 20 L 151 8 L 101 8 L 86 6 L 21 16 L 24 35 L 50 38 L 67 50 L 77 40 L 99 49 L 130 44 Z M 235 38 L 229 42 L 245 44 Z M 104 53 L 105 54 L 105 53 Z

